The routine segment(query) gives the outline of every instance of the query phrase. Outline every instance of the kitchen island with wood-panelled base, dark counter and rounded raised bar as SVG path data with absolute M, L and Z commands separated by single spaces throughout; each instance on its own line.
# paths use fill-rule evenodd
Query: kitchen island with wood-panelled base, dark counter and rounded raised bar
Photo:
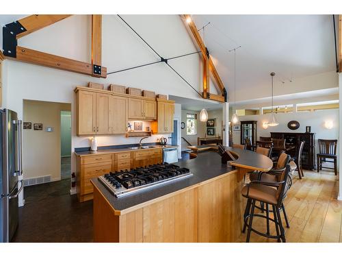
M 116 198 L 96 178 L 95 242 L 235 242 L 241 234 L 241 176 L 268 171 L 272 161 L 252 151 L 226 147 L 236 167 L 221 163 L 215 147 L 175 163 L 194 175 Z

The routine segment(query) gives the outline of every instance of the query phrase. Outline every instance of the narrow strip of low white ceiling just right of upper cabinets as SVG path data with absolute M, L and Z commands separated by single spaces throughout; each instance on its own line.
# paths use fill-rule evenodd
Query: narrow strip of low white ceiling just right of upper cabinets
M 222 104 L 216 101 L 188 99 L 184 97 L 176 97 L 175 95 L 169 95 L 169 99 L 176 103 L 180 103 L 182 105 L 182 110 L 200 111 L 203 108 L 207 110 L 218 110 L 222 108 Z

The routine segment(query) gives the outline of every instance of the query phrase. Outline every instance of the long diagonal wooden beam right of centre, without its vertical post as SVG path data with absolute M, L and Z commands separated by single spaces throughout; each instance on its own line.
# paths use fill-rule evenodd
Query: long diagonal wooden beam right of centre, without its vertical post
M 189 14 L 183 15 L 185 21 L 187 19 L 192 19 Z M 218 88 L 218 90 L 223 93 L 224 92 L 224 84 L 222 82 L 222 79 L 220 78 L 220 75 L 218 75 L 218 71 L 216 71 L 215 65 L 213 64 L 213 61 L 211 60 L 210 56 L 207 56 L 207 48 L 205 47 L 205 43 L 203 42 L 200 34 L 198 33 L 198 29 L 196 27 L 196 24 L 194 21 L 191 21 L 190 23 L 187 23 L 190 31 L 192 32 L 192 36 L 194 40 L 196 41 L 196 44 L 200 48 L 200 51 L 202 52 L 203 58 L 206 60 L 209 59 L 209 70 L 211 71 L 213 78 L 215 80 L 215 86 Z

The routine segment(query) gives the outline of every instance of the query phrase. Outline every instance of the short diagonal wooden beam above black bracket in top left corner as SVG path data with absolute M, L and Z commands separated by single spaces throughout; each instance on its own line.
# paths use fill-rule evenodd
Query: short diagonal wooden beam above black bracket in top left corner
M 32 32 L 36 32 L 38 29 L 57 23 L 57 21 L 62 21 L 70 16 L 71 14 L 34 14 L 27 16 L 18 20 L 25 27 L 26 31 L 16 35 L 16 38 L 18 39 Z

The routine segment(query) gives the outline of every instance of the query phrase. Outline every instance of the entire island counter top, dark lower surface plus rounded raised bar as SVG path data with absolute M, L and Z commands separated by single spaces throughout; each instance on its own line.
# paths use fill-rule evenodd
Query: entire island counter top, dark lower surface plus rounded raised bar
M 205 146 L 201 145 L 201 148 Z M 176 162 L 174 164 L 179 167 L 185 167 L 190 170 L 194 175 L 190 178 L 183 180 L 176 180 L 169 184 L 163 184 L 150 190 L 142 191 L 141 193 L 135 193 L 133 195 L 127 195 L 125 197 L 116 198 L 98 181 L 97 178 L 91 180 L 92 184 L 101 192 L 103 197 L 107 199 L 111 207 L 115 210 L 117 215 L 130 212 L 141 206 L 148 205 L 148 201 L 155 201 L 159 197 L 181 191 L 184 188 L 189 188 L 201 183 L 217 178 L 220 175 L 224 175 L 235 168 L 227 167 L 226 164 L 221 163 L 221 156 L 215 152 L 217 147 L 212 146 L 211 150 L 214 151 L 200 151 L 198 157 L 192 160 L 184 160 Z M 257 154 L 254 151 L 243 150 L 233 147 L 226 147 L 228 151 L 232 151 L 239 158 L 232 162 L 235 167 L 243 167 L 249 170 L 269 171 L 272 169 L 273 162 L 262 154 Z

